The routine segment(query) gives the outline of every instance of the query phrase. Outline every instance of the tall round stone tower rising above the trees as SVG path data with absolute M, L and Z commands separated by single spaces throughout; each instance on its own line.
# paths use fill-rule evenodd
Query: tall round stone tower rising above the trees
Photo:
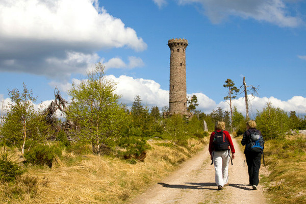
M 182 114 L 191 116 L 187 112 L 186 95 L 186 39 L 170 39 L 170 87 L 169 87 L 169 112 L 167 115 Z

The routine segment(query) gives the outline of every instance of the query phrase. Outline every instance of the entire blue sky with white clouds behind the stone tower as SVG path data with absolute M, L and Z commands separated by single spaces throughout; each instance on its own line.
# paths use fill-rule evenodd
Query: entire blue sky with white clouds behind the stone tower
M 251 111 L 268 101 L 306 112 L 306 1 L 4 0 L 0 2 L 0 99 L 22 82 L 37 103 L 62 95 L 97 62 L 118 83 L 121 101 L 169 102 L 167 42 L 188 40 L 187 95 L 198 109 L 228 110 L 226 79 L 259 86 Z M 244 113 L 244 98 L 234 105 Z M 2 102 L 0 102 L 2 103 Z

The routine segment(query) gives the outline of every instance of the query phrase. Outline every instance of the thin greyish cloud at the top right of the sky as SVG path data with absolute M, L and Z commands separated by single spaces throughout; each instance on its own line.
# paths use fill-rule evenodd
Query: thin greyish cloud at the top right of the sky
M 213 23 L 219 23 L 228 16 L 253 18 L 267 21 L 279 27 L 297 27 L 302 20 L 291 16 L 284 0 L 179 0 L 180 4 L 199 3 Z

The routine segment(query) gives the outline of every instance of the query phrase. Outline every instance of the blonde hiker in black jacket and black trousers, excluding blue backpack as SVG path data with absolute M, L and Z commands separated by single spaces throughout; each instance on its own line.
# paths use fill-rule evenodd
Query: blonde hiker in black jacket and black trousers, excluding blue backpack
M 254 190 L 257 189 L 257 186 L 259 184 L 259 169 L 263 154 L 263 151 L 261 152 L 251 151 L 248 147 L 248 143 L 250 141 L 250 136 L 252 133 L 257 132 L 259 135 L 261 135 L 261 132 L 256 129 L 256 126 L 257 125 L 255 121 L 253 120 L 247 121 L 246 127 L 248 130 L 244 132 L 243 138 L 241 140 L 241 144 L 246 145 L 244 149 L 244 154 L 248 167 L 249 185 L 252 186 Z

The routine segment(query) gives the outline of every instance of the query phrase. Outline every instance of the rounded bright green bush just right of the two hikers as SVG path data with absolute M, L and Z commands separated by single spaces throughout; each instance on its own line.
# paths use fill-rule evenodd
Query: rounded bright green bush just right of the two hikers
M 287 113 L 280 108 L 274 108 L 271 103 L 267 103 L 263 111 L 257 113 L 256 123 L 265 140 L 284 138 L 285 133 L 289 131 Z

